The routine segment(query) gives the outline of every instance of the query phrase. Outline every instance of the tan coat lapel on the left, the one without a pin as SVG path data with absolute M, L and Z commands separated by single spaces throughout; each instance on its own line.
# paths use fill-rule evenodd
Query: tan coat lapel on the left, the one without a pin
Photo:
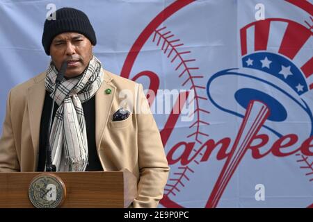
M 45 101 L 46 89 L 44 80 L 45 73 L 35 78 L 35 85 L 29 88 L 27 94 L 27 104 L 29 108 L 29 128 L 31 130 L 35 162 L 37 162 L 38 159 L 40 120 L 43 104 Z

